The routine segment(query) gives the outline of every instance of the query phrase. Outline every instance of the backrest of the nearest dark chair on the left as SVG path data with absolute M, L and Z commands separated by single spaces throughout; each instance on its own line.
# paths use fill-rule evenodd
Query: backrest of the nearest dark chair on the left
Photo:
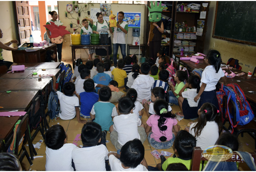
M 16 140 L 15 140 L 15 150 L 14 150 L 14 154 L 15 155 L 18 155 L 21 148 L 18 148 L 19 147 L 19 143 L 20 141 L 22 141 L 22 137 L 24 136 L 24 134 L 28 131 L 28 128 L 29 128 L 29 118 L 28 118 L 28 113 L 25 114 L 23 116 L 23 118 L 21 119 L 20 123 L 19 123 L 19 126 L 17 128 L 17 132 L 16 132 Z M 27 132 L 27 137 L 28 137 L 28 132 Z M 21 143 L 23 144 L 23 143 Z

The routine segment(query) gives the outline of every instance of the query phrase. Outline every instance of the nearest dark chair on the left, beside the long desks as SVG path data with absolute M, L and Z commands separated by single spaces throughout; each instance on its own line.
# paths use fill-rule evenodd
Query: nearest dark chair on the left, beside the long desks
M 21 149 L 19 150 L 18 146 L 19 146 L 19 142 L 22 139 L 24 134 L 25 134 L 25 136 L 24 136 L 25 138 L 24 138 L 22 146 L 21 146 L 21 149 L 23 151 L 21 153 Z M 24 146 L 25 143 L 27 142 L 27 140 L 28 140 L 28 144 L 29 144 L 29 151 L 30 151 L 30 157 L 31 158 L 29 157 L 28 151 L 27 151 L 26 147 Z M 15 140 L 14 144 L 15 144 L 14 154 L 17 155 L 17 157 L 18 157 L 18 155 L 21 153 L 21 155 L 19 157 L 19 161 L 22 162 L 24 156 L 26 156 L 28 161 L 29 161 L 29 164 L 32 165 L 33 163 L 32 163 L 31 160 L 34 159 L 33 151 L 36 151 L 36 150 L 33 147 L 32 141 L 30 139 L 30 134 L 29 134 L 29 114 L 28 113 L 23 116 L 22 120 L 19 123 L 19 126 L 17 128 L 17 132 L 16 132 L 16 140 Z

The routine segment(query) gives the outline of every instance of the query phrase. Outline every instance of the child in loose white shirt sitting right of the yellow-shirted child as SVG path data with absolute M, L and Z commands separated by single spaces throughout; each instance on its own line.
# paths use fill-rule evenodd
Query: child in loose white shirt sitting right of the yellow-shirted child
M 136 79 L 134 79 L 134 83 L 131 88 L 134 88 L 137 93 L 138 97 L 137 100 L 140 102 L 143 99 L 149 100 L 150 99 L 150 90 L 153 86 L 155 80 L 153 77 L 149 76 L 148 73 L 150 71 L 150 65 L 145 62 L 141 64 L 140 73 Z

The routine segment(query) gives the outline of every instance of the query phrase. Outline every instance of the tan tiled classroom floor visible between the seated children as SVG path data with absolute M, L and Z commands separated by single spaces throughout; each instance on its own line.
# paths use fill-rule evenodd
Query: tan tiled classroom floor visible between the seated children
M 71 64 L 71 62 L 64 62 L 64 64 L 67 64 L 67 63 Z M 126 92 L 123 91 L 123 89 L 124 89 L 124 87 L 120 88 L 120 90 L 123 93 L 126 93 Z M 114 103 L 114 104 L 116 105 L 117 102 Z M 173 106 L 171 106 L 171 108 L 172 108 L 174 113 L 180 111 L 179 106 L 173 105 Z M 142 119 L 141 119 L 143 124 L 146 123 L 147 119 L 148 119 L 148 117 L 146 115 L 146 112 L 144 112 L 144 115 L 142 116 Z M 47 116 L 47 120 L 49 121 L 49 116 Z M 88 118 L 86 120 L 90 120 L 90 118 Z M 180 130 L 183 130 L 189 122 L 196 122 L 196 121 L 197 121 L 197 119 L 195 119 L 193 121 L 190 120 L 190 119 L 182 119 L 182 120 L 178 121 L 178 125 L 180 126 Z M 55 124 L 60 124 L 64 127 L 64 129 L 67 133 L 67 142 L 68 143 L 73 143 L 74 142 L 74 139 L 75 139 L 76 135 L 81 134 L 81 129 L 83 127 L 83 124 L 79 124 L 77 122 L 76 118 L 74 118 L 72 120 L 62 120 L 60 118 L 58 118 L 57 121 L 55 121 L 55 119 L 50 120 L 50 123 L 49 123 L 50 127 L 55 125 Z M 32 133 L 34 133 L 34 131 L 32 131 Z M 33 141 L 33 144 L 36 144 L 41 139 L 43 139 L 43 138 L 41 136 L 41 133 L 39 132 L 37 134 L 37 136 L 35 137 L 35 139 Z M 106 143 L 106 146 L 107 146 L 108 150 L 116 152 L 117 151 L 116 148 L 111 143 L 110 132 L 109 131 L 107 133 L 106 140 L 109 141 L 109 143 Z M 252 139 L 252 137 L 250 137 L 249 134 L 244 133 L 244 137 L 241 137 L 241 135 L 239 135 L 239 143 L 240 143 L 239 151 L 254 152 L 254 140 Z M 79 145 L 82 145 L 82 141 L 78 141 L 78 146 Z M 147 164 L 149 166 L 154 166 L 155 167 L 157 165 L 157 163 L 161 162 L 160 159 L 156 159 L 150 153 L 151 151 L 155 150 L 155 148 L 150 146 L 147 139 L 145 140 L 143 145 L 144 145 L 144 148 L 145 148 L 145 159 L 146 159 Z M 44 171 L 45 170 L 45 161 L 46 161 L 45 148 L 46 148 L 46 146 L 45 146 L 44 142 L 41 144 L 40 149 L 36 148 L 36 151 L 37 151 L 37 154 L 38 154 L 37 156 L 43 156 L 43 157 L 35 158 L 32 161 L 33 165 L 31 165 L 31 166 L 29 165 L 29 162 L 28 162 L 27 158 L 24 157 L 24 159 L 21 163 L 22 169 L 23 170 L 29 170 L 29 171 L 31 171 L 31 170 Z M 26 146 L 26 149 L 27 149 L 27 151 L 29 151 L 27 146 Z M 173 147 L 171 147 L 169 149 L 158 149 L 157 151 L 161 152 L 161 150 L 174 153 Z M 166 157 L 166 158 L 168 158 L 168 157 Z M 247 165 L 245 163 L 240 163 L 239 164 L 239 170 L 248 171 L 250 169 L 247 167 Z

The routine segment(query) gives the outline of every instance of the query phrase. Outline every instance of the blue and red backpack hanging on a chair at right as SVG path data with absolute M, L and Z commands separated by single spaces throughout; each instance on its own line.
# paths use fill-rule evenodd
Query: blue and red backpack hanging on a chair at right
M 253 118 L 253 112 L 251 110 L 250 104 L 246 100 L 243 90 L 240 88 L 239 85 L 232 83 L 227 84 L 227 86 L 221 85 L 220 91 L 216 92 L 218 95 L 226 95 L 227 96 L 227 109 L 229 109 L 228 102 L 229 100 L 233 100 L 236 105 L 236 121 L 237 124 L 234 125 L 231 118 L 233 118 L 232 114 L 230 114 L 229 110 L 226 109 L 226 114 L 228 116 L 229 122 L 232 126 L 232 133 L 234 131 L 233 127 L 237 125 L 246 125 L 248 124 Z M 223 96 L 222 96 L 223 97 Z M 222 101 L 222 100 L 221 100 Z M 222 104 L 222 102 L 221 102 Z

